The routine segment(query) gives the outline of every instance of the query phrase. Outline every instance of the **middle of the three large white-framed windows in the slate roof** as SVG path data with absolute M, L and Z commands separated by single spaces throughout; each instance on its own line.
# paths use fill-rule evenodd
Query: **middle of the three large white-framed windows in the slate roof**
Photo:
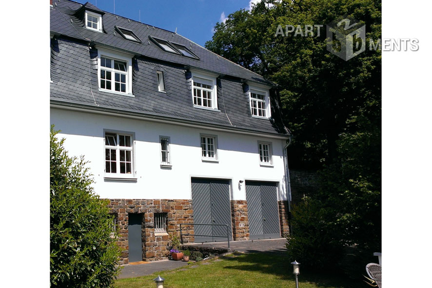
M 197 108 L 217 109 L 216 77 L 193 73 L 192 101 Z

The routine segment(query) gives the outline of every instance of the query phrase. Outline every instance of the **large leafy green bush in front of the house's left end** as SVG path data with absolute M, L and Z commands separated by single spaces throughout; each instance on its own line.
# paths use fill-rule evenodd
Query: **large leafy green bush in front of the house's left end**
M 111 287 L 119 249 L 107 203 L 93 192 L 83 157 L 50 135 L 50 286 Z

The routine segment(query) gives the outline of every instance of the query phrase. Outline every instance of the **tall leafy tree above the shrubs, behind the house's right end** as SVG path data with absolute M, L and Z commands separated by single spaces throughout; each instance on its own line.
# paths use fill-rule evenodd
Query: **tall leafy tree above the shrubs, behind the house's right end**
M 273 3 L 268 8 L 266 2 Z M 284 122 L 294 134 L 290 166 L 319 169 L 337 157 L 340 133 L 366 102 L 380 125 L 381 52 L 366 49 L 349 61 L 326 50 L 325 28 L 314 37 L 275 36 L 278 25 L 324 25 L 339 16 L 366 24 L 366 43 L 381 37 L 379 0 L 266 0 L 217 23 L 206 48 L 276 82 Z

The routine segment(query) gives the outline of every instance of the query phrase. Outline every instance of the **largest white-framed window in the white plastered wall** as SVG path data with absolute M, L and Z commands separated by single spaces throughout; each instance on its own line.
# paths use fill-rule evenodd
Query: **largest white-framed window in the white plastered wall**
M 134 177 L 134 135 L 122 132 L 104 132 L 105 176 Z

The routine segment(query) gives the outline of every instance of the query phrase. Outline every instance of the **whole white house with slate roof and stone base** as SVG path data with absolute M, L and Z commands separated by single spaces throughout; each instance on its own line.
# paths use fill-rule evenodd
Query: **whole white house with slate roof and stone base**
M 51 123 L 110 200 L 122 263 L 167 257 L 180 224 L 185 242 L 289 232 L 274 83 L 175 32 L 53 2 Z

